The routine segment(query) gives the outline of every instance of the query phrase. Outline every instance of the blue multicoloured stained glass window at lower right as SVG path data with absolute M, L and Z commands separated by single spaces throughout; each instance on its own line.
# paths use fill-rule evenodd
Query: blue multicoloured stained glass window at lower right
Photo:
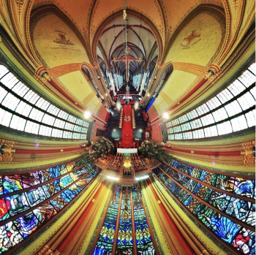
M 161 164 L 153 171 L 181 204 L 241 254 L 255 254 L 255 180 L 200 170 L 173 159 L 168 164 L 172 167 Z

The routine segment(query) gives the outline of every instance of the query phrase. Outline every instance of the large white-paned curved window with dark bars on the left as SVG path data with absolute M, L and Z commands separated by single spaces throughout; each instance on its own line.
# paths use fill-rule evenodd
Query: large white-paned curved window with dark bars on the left
M 47 137 L 83 140 L 89 123 L 51 104 L 0 65 L 0 125 Z

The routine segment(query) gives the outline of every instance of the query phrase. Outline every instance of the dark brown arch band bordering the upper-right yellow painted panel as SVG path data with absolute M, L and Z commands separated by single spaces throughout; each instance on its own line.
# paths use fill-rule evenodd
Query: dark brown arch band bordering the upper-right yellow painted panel
M 184 20 L 180 23 L 178 28 L 176 28 L 176 31 L 173 33 L 173 36 L 170 38 L 170 41 L 167 43 L 167 46 L 165 47 L 165 52 L 163 53 L 162 57 L 162 62 L 165 62 L 168 53 L 170 51 L 170 47 L 172 47 L 173 42 L 175 42 L 176 38 L 178 37 L 178 34 L 189 24 L 191 20 L 193 20 L 197 15 L 199 15 L 202 12 L 207 12 L 209 15 L 214 16 L 219 21 L 219 25 L 223 25 L 222 29 L 225 30 L 225 24 L 226 24 L 226 19 L 225 19 L 225 10 L 222 9 L 221 7 L 217 7 L 212 4 L 200 4 L 196 8 L 193 7 L 192 11 L 187 15 L 187 17 L 184 18 Z M 222 33 L 222 39 L 219 44 L 218 49 L 214 53 L 214 56 L 211 57 L 211 60 L 208 62 L 208 64 L 211 64 L 215 58 L 217 58 L 222 45 L 225 40 L 225 33 Z

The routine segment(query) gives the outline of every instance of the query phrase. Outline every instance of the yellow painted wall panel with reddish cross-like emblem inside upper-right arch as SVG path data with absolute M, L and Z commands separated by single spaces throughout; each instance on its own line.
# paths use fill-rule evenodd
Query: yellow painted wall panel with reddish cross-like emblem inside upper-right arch
M 176 37 L 166 62 L 211 64 L 225 35 L 225 24 L 217 15 L 203 12 L 193 18 Z

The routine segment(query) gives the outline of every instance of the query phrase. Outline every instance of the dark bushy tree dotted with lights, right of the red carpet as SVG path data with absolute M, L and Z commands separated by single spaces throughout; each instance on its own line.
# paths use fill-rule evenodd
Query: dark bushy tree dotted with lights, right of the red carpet
M 157 159 L 158 161 L 165 161 L 165 159 L 170 158 L 170 155 L 162 149 L 162 145 L 152 140 L 141 142 L 139 152 L 143 157 Z

